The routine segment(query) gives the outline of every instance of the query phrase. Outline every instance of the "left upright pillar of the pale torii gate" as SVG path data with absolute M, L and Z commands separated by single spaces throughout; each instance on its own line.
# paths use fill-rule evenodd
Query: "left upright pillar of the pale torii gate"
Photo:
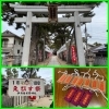
M 32 35 L 32 12 L 28 11 L 26 20 L 23 56 L 22 56 L 22 65 L 28 65 L 31 35 Z

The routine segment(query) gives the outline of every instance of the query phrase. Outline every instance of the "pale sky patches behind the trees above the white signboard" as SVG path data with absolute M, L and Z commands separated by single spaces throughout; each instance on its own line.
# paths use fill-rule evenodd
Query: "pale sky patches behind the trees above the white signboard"
M 19 71 L 19 77 L 22 78 L 23 72 L 20 69 L 16 69 Z M 7 75 L 5 69 L 2 69 L 2 74 Z M 37 72 L 37 76 L 41 76 L 41 78 L 46 80 L 46 84 L 49 84 L 50 81 L 53 78 L 53 71 L 51 68 L 39 68 L 39 71 Z

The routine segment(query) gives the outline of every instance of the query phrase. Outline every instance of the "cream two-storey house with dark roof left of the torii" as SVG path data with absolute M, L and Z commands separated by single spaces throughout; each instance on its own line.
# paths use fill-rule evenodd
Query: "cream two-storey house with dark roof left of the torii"
M 9 31 L 2 33 L 2 55 L 22 56 L 23 37 Z

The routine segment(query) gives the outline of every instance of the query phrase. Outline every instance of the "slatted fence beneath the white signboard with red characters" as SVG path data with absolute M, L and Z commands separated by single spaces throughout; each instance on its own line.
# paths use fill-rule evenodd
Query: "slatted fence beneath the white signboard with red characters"
M 23 104 L 27 102 L 26 96 L 15 96 L 15 97 L 9 97 L 7 95 L 2 95 L 2 107 L 21 107 Z

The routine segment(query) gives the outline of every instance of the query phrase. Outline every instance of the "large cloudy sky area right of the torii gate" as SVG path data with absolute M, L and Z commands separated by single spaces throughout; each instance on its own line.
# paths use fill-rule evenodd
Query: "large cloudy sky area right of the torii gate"
M 87 33 L 92 36 L 88 38 L 88 43 L 95 41 L 106 44 L 107 43 L 107 3 L 101 3 L 99 8 L 95 8 L 94 13 L 96 14 L 92 19 L 92 23 L 87 23 Z M 84 35 L 84 26 L 82 27 L 82 35 Z

